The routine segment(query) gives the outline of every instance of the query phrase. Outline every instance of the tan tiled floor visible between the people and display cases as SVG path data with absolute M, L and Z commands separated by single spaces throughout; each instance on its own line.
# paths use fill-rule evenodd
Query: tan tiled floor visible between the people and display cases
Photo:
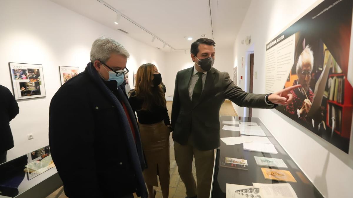
M 167 109 L 169 112 L 169 117 L 170 113 L 172 111 L 172 102 L 167 102 Z M 224 116 L 237 116 L 237 113 L 234 111 L 234 108 L 232 106 L 232 103 L 230 101 L 226 101 L 225 103 L 222 104 L 221 110 L 220 110 L 220 115 Z M 185 185 L 183 181 L 181 181 L 179 174 L 178 174 L 178 166 L 177 163 L 175 162 L 174 158 L 174 146 L 173 146 L 173 140 L 172 136 L 170 135 L 169 137 L 169 142 L 170 142 L 170 184 L 169 184 L 169 198 L 185 198 L 186 197 L 186 190 L 185 190 Z M 192 173 L 194 175 L 195 181 L 196 181 L 196 169 L 195 169 L 195 163 L 193 162 L 192 166 Z M 158 186 L 159 181 L 158 181 Z M 56 190 L 54 193 L 50 194 L 48 198 L 54 198 L 56 194 L 58 194 L 59 190 Z M 162 198 L 162 191 L 160 187 L 155 187 L 155 190 L 157 191 L 156 198 Z M 134 197 L 137 197 L 134 195 Z M 60 195 L 59 198 L 67 198 L 64 193 Z

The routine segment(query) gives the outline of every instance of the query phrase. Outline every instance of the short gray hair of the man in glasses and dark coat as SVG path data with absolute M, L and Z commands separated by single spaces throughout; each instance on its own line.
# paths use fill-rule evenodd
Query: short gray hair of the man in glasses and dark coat
M 92 63 L 96 60 L 106 62 L 112 53 L 130 57 L 129 52 L 120 43 L 112 38 L 100 37 L 92 44 L 90 60 Z

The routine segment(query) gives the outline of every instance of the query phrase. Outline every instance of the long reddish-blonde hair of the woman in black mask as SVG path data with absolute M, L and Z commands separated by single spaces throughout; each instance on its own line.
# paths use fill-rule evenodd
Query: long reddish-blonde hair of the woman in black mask
M 152 87 L 152 76 L 154 73 L 154 64 L 147 63 L 141 65 L 136 74 L 136 86 L 135 95 L 131 97 L 137 97 L 143 99 L 141 110 L 150 111 L 152 105 L 166 107 L 166 97 L 164 95 L 161 85 L 158 87 Z

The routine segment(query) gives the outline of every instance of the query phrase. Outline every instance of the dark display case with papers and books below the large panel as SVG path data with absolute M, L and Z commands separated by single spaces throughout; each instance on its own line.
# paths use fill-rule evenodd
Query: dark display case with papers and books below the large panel
M 223 124 L 223 121 L 227 124 Z M 231 124 L 238 122 L 240 125 Z M 248 143 L 227 145 L 221 140 L 221 146 L 216 150 L 211 197 L 225 198 L 227 184 L 228 186 L 229 184 L 235 184 L 235 186 L 244 185 L 244 187 L 240 186 L 241 189 L 237 190 L 237 192 L 235 192 L 235 190 L 228 192 L 238 193 L 235 197 L 253 196 L 252 193 L 245 192 L 256 192 L 256 189 L 258 189 L 255 186 L 256 184 L 280 184 L 270 185 L 277 187 L 281 186 L 281 184 L 288 187 L 287 184 L 289 184 L 289 188 L 292 188 L 296 196 L 299 198 L 323 197 L 301 169 L 295 164 L 292 158 L 271 135 L 270 131 L 267 130 L 260 119 L 221 116 L 220 123 L 221 139 L 226 137 L 245 136 L 245 140 L 241 141 L 247 141 Z M 226 127 L 224 127 L 225 125 Z M 247 133 L 249 134 L 250 131 L 256 132 L 257 136 L 252 135 L 249 138 L 248 135 L 245 135 Z M 262 134 L 262 131 L 264 134 Z M 235 139 L 238 141 L 239 138 Z M 227 142 L 230 140 L 233 141 L 229 138 L 225 141 Z M 229 142 L 227 143 L 231 144 Z M 273 146 L 271 144 L 273 144 Z M 256 150 L 266 151 L 261 152 Z M 230 188 L 228 188 L 228 190 L 229 189 Z

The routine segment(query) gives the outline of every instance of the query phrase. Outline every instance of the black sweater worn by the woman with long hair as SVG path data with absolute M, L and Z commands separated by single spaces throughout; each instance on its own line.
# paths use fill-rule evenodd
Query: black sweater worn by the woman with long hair
M 137 119 L 139 123 L 155 124 L 163 120 L 165 125 L 170 125 L 167 107 L 153 105 L 151 108 L 152 111 L 141 110 L 143 99 L 135 97 L 135 92 L 131 93 L 129 101 L 132 110 L 137 112 Z

